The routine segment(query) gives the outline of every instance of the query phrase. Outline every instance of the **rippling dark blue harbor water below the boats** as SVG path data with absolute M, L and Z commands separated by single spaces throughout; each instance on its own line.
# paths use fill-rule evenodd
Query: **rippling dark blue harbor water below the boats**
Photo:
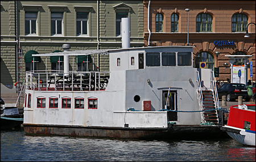
M 134 140 L 31 136 L 1 131 L 1 161 L 255 161 L 255 147 L 231 138 Z

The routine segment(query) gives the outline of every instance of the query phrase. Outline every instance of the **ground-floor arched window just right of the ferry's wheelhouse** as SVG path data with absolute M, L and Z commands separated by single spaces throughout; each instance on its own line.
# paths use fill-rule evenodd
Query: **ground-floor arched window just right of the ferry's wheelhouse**
M 196 68 L 200 68 L 200 62 L 207 62 L 207 69 L 214 68 L 214 58 L 208 52 L 201 52 L 196 56 L 195 65 Z

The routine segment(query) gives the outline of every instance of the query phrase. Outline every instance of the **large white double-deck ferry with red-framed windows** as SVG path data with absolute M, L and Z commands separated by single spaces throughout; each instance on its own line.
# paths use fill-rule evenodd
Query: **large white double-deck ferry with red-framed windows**
M 64 56 L 64 71 L 26 72 L 25 132 L 110 138 L 225 136 L 214 73 L 193 68 L 192 46 L 130 48 L 129 42 L 122 49 L 33 55 Z M 79 55 L 109 55 L 109 72 L 69 70 L 74 64 L 68 60 Z M 214 125 L 205 124 L 209 122 Z

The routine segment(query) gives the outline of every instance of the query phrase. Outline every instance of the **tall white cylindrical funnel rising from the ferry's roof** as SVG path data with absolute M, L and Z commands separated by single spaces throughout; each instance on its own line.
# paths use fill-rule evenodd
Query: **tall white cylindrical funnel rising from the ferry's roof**
M 122 18 L 122 48 L 130 48 L 130 18 Z

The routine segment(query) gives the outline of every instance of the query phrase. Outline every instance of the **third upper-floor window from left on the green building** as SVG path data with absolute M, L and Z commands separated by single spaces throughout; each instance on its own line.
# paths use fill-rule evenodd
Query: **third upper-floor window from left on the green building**
M 87 35 L 88 13 L 76 13 L 76 36 Z

